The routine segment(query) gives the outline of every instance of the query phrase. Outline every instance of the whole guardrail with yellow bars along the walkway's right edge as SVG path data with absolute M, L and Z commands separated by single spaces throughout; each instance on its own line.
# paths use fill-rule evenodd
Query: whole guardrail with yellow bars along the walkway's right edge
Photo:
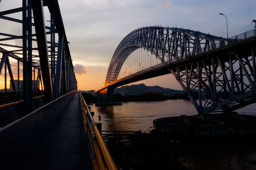
M 111 169 L 115 170 L 115 163 L 104 143 L 100 131 L 97 127 L 97 122 L 94 121 L 88 105 L 79 91 L 81 110 L 83 112 L 84 131 L 88 135 L 88 145 L 90 155 L 92 157 L 93 169 Z

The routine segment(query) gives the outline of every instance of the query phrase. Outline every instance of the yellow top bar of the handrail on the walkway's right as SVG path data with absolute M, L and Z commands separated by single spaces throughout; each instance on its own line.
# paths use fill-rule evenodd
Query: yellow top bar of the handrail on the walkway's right
M 97 124 L 93 123 L 94 119 L 93 119 L 92 114 L 91 114 L 91 112 L 88 108 L 88 105 L 84 101 L 84 98 L 83 98 L 80 90 L 79 90 L 79 96 L 81 97 L 81 102 L 82 102 L 81 104 L 83 104 L 83 106 L 86 108 L 86 111 L 87 111 L 86 115 L 88 115 L 89 118 L 90 118 L 90 121 L 92 121 L 92 122 L 90 122 L 90 124 L 92 125 L 92 129 L 93 129 L 93 132 L 95 134 L 95 138 L 97 139 L 97 144 L 99 145 L 99 149 L 102 153 L 104 161 L 106 162 L 106 167 L 107 167 L 107 169 L 115 170 L 116 169 L 115 163 L 114 163 L 114 161 L 113 161 L 113 159 L 112 159 L 112 157 L 111 157 L 111 155 L 108 151 L 108 148 L 107 148 L 106 144 L 104 143 L 104 140 L 102 139 L 102 136 L 101 136 L 100 131 L 97 127 Z M 101 167 L 102 165 L 99 165 L 99 166 Z

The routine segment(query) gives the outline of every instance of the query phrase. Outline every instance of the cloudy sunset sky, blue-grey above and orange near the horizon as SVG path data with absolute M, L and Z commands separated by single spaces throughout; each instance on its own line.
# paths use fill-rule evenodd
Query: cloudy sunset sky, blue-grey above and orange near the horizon
M 2 0 L 0 10 L 17 1 Z M 226 37 L 226 20 L 219 15 L 224 13 L 230 37 L 253 29 L 256 19 L 255 0 L 59 0 L 59 4 L 79 90 L 104 85 L 116 47 L 134 29 L 161 25 Z M 180 89 L 171 74 L 136 83 Z

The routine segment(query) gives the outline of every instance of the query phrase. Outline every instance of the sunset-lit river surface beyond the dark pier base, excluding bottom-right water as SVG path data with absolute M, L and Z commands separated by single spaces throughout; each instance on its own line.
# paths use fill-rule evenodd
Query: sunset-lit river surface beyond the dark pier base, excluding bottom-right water
M 253 115 L 256 104 L 237 110 L 237 113 Z M 153 129 L 153 120 L 162 117 L 175 117 L 179 115 L 195 115 L 196 109 L 191 101 L 175 99 L 167 101 L 127 102 L 121 106 L 95 106 L 95 121 L 99 115 L 104 131 L 141 131 L 150 132 Z

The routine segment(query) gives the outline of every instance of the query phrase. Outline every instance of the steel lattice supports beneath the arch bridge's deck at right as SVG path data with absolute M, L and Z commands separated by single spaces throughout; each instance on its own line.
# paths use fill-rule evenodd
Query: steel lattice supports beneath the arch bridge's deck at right
M 198 113 L 233 111 L 256 102 L 256 46 L 169 69 Z

